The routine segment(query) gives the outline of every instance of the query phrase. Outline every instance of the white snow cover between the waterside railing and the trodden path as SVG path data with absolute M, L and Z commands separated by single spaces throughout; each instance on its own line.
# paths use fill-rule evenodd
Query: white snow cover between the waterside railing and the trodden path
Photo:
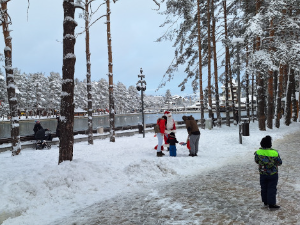
M 193 179 L 201 173 L 237 162 L 249 162 L 262 137 L 271 135 L 273 140 L 278 140 L 299 130 L 300 123 L 292 123 L 289 127 L 282 125 L 280 129 L 262 132 L 255 122 L 250 124 L 250 136 L 243 137 L 243 144 L 239 144 L 237 126 L 201 130 L 198 157 L 189 157 L 186 146 L 180 145 L 177 145 L 177 157 L 169 157 L 166 151 L 166 156 L 156 157 L 153 147 L 157 139 L 153 133 L 146 133 L 145 138 L 140 134 L 119 137 L 115 143 L 109 139 L 95 140 L 94 145 L 77 143 L 73 161 L 60 165 L 57 146 L 50 150 L 24 149 L 21 155 L 14 157 L 9 151 L 3 152 L 0 154 L 0 224 L 57 224 L 75 212 L 116 196 L 153 193 L 168 183 Z M 176 136 L 179 142 L 185 142 L 186 130 L 178 129 Z M 276 145 L 273 147 L 276 149 Z M 257 171 L 253 174 L 258 178 Z M 300 190 L 300 178 L 294 179 L 294 187 Z M 122 199 L 118 197 L 115 204 L 124 205 Z M 151 201 L 151 195 L 148 200 Z M 167 204 L 167 200 L 161 201 Z M 176 207 L 184 211 L 186 206 Z M 180 224 L 193 223 L 183 221 Z

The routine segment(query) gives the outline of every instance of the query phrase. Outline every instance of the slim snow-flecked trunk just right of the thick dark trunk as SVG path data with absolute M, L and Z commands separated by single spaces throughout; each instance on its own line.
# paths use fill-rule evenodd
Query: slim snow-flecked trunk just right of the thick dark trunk
M 85 48 L 86 48 L 86 87 L 88 98 L 88 144 L 94 144 L 93 141 L 93 102 L 92 102 L 92 82 L 91 82 L 91 53 L 90 53 L 90 29 L 89 29 L 89 0 L 85 0 Z

